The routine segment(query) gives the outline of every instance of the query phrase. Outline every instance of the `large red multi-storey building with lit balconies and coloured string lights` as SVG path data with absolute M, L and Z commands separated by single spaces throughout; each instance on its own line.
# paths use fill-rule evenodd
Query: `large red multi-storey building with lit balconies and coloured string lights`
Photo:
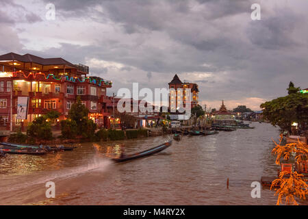
M 77 96 L 89 110 L 89 118 L 99 126 L 110 126 L 107 105 L 112 99 L 106 89 L 112 81 L 87 76 L 89 67 L 58 58 L 8 53 L 0 55 L 0 116 L 13 124 L 31 123 L 49 110 L 60 112 L 60 120 L 68 115 Z M 27 119 L 16 118 L 18 96 L 29 96 Z M 12 111 L 11 111 L 12 103 Z

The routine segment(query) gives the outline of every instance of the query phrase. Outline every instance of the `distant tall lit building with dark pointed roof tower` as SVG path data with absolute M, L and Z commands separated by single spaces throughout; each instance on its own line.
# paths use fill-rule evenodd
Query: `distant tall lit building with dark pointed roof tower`
M 185 89 L 190 89 L 190 97 L 191 102 L 190 106 L 191 108 L 198 105 L 198 85 L 196 83 L 188 83 L 188 82 L 182 82 L 177 75 L 173 77 L 172 81 L 168 83 L 169 89 L 173 88 L 174 91 L 170 91 L 170 97 L 169 97 L 169 107 L 170 110 L 176 110 L 178 109 L 179 105 L 181 105 L 181 102 L 183 103 L 183 107 L 185 107 L 186 100 L 185 100 Z M 181 90 L 179 90 L 181 89 Z M 175 92 L 175 93 L 172 93 Z

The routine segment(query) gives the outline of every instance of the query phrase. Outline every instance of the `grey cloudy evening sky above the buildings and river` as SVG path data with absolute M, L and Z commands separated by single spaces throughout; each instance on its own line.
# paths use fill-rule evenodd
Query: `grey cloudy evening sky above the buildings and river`
M 119 88 L 163 88 L 177 73 L 201 104 L 253 110 L 308 87 L 307 0 L 0 0 L 0 53 L 63 57 Z M 55 5 L 55 20 L 46 17 Z M 251 5 L 261 5 L 261 20 Z

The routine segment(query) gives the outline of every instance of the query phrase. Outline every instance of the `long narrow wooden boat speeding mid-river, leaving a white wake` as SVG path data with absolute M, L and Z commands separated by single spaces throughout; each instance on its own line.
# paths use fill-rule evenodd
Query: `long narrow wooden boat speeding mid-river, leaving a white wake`
M 172 140 L 169 141 L 169 142 L 166 142 L 164 144 L 161 144 L 159 146 L 155 146 L 151 149 L 141 151 L 139 153 L 134 153 L 134 154 L 131 154 L 131 155 L 124 155 L 123 157 L 113 158 L 112 160 L 114 162 L 127 162 L 131 159 L 137 159 L 137 158 L 140 158 L 140 157 L 153 155 L 155 153 L 159 153 L 160 151 L 163 151 L 164 149 L 168 148 L 168 146 L 170 146 L 171 144 L 172 144 Z

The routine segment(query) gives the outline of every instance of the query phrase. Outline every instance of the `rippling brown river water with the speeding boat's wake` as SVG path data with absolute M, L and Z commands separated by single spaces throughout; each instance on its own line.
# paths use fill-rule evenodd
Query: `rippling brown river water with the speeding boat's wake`
M 279 130 L 267 123 L 251 126 L 255 129 L 184 136 L 161 153 L 125 164 L 107 157 L 119 144 L 133 153 L 172 136 L 83 143 L 74 151 L 41 156 L 8 155 L 0 158 L 0 205 L 275 205 L 277 196 L 268 188 L 261 188 L 261 198 L 252 198 L 251 183 L 277 176 L 270 152 Z M 55 183 L 55 198 L 45 196 L 48 181 Z

